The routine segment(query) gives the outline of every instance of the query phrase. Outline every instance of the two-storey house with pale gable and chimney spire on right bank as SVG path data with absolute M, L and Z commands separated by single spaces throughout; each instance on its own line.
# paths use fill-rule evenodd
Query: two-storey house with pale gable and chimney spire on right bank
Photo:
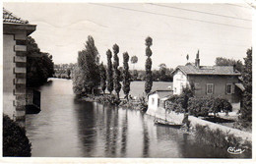
M 239 102 L 241 74 L 233 66 L 200 66 L 199 52 L 195 65 L 178 66 L 172 75 L 173 94 L 180 94 L 183 87 L 193 83 L 195 96 L 221 96 L 230 102 Z

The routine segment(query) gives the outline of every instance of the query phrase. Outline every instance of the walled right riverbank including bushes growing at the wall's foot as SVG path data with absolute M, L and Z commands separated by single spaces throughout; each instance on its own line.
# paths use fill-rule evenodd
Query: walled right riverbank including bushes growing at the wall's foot
M 159 107 L 157 111 L 148 110 L 147 114 L 175 124 L 184 123 L 184 114 L 166 112 Z M 240 147 L 251 151 L 252 134 L 226 127 L 194 116 L 188 116 L 188 128 L 191 135 L 208 144 L 218 147 Z M 227 147 L 226 147 L 227 146 Z

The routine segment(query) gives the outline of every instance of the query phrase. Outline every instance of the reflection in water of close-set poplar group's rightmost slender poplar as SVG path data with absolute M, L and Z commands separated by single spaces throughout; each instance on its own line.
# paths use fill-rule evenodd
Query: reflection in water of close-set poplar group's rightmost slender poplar
M 125 110 L 125 117 L 122 122 L 122 140 L 121 140 L 121 155 L 126 155 L 126 145 L 127 145 L 127 131 L 128 131 L 128 118 L 127 109 Z

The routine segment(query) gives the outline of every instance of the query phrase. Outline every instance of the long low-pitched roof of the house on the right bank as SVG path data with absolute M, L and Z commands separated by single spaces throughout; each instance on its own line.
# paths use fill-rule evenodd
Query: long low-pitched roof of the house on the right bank
M 221 75 L 221 76 L 240 76 L 241 74 L 233 69 L 233 66 L 200 66 L 194 65 L 177 66 L 171 73 L 172 75 L 180 70 L 185 75 Z

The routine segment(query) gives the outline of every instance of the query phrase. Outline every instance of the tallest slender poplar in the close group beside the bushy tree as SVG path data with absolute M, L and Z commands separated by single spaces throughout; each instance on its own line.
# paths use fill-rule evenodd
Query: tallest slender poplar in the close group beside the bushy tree
M 113 68 L 114 68 L 114 90 L 116 92 L 117 98 L 119 99 L 119 92 L 121 90 L 121 73 L 118 69 L 119 67 L 119 58 L 117 54 L 119 53 L 119 47 L 117 44 L 113 45 L 113 52 L 114 52 L 114 63 L 113 63 Z

